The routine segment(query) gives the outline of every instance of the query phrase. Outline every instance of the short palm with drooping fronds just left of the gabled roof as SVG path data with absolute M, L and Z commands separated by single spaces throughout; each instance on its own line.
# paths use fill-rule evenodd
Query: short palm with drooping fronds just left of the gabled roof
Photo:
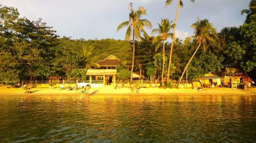
M 93 56 L 92 57 L 92 51 L 93 51 L 93 47 L 92 46 L 88 46 L 88 45 L 84 45 L 82 47 L 83 50 L 83 57 L 84 57 L 84 67 L 85 68 L 91 68 L 91 66 L 94 67 L 99 67 L 99 64 L 94 63 L 93 61 L 96 60 L 97 56 Z

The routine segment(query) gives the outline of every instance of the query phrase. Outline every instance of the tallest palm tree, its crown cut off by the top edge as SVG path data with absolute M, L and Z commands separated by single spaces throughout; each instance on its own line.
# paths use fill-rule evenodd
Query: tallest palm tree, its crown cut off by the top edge
M 195 0 L 190 0 L 190 1 L 195 2 Z M 173 0 L 166 0 L 165 7 L 170 5 L 172 2 L 173 2 Z M 169 83 L 171 60 L 172 60 L 172 49 L 173 49 L 173 43 L 174 43 L 174 40 L 175 40 L 175 27 L 176 27 L 176 22 L 177 22 L 179 11 L 180 11 L 180 6 L 183 7 L 183 3 L 182 3 L 181 0 L 179 0 L 179 2 L 178 2 L 178 10 L 177 10 L 177 13 L 176 13 L 176 17 L 175 17 L 175 21 L 174 21 L 174 27 L 173 27 L 172 45 L 171 45 L 170 58 L 169 58 L 168 70 L 167 70 L 167 84 Z

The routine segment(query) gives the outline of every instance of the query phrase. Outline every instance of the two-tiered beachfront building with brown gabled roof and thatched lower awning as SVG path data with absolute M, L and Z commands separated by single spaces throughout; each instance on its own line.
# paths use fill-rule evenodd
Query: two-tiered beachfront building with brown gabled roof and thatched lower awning
M 117 66 L 122 62 L 123 61 L 113 55 L 97 62 L 99 67 L 91 67 L 91 69 L 88 69 L 86 73 L 86 75 L 90 77 L 90 84 L 93 84 L 92 81 L 102 81 L 103 86 L 115 85 Z

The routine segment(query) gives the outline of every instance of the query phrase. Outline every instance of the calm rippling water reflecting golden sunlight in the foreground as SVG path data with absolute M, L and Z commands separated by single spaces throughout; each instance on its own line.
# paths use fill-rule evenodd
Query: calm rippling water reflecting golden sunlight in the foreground
M 0 142 L 256 142 L 256 96 L 1 96 Z

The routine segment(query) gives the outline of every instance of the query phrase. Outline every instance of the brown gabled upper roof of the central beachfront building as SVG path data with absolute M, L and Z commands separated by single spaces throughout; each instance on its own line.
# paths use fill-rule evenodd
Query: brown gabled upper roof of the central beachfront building
M 123 61 L 119 60 L 117 57 L 111 55 L 102 61 L 97 62 L 100 67 L 116 67 L 119 66 Z

